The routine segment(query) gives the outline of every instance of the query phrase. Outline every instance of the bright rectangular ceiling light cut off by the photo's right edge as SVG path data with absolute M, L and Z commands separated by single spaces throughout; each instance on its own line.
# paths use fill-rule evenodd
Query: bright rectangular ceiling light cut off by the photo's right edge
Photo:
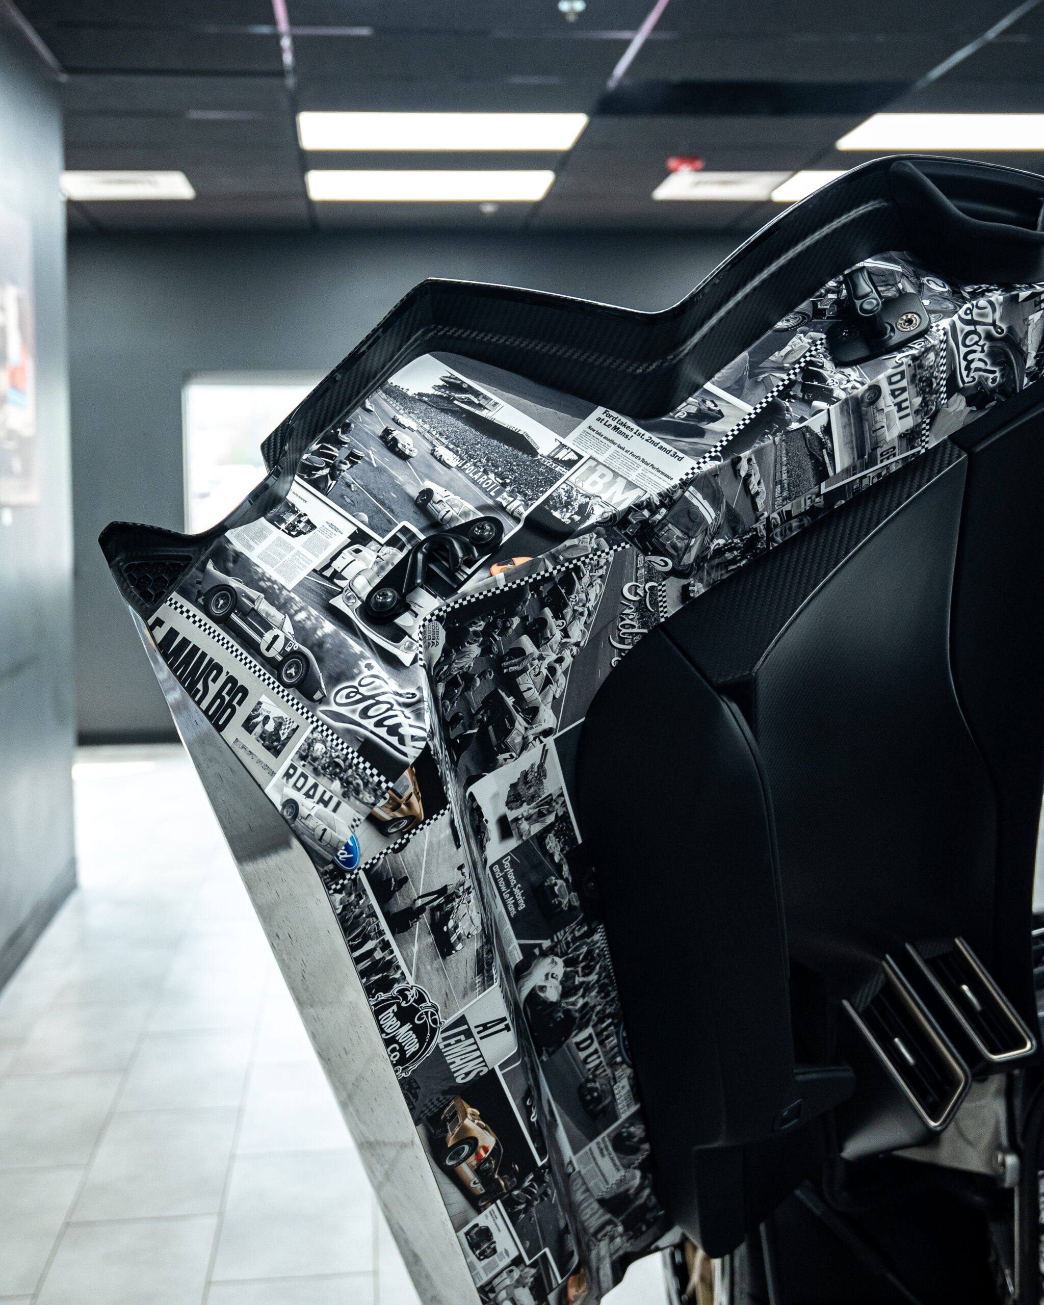
M 1044 114 L 874 114 L 839 150 L 1044 150 Z

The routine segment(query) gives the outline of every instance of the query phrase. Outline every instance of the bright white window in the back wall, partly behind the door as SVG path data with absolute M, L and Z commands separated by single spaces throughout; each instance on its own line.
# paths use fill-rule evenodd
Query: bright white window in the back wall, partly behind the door
M 318 372 L 194 372 L 181 392 L 185 530 L 215 526 L 265 476 L 262 441 Z

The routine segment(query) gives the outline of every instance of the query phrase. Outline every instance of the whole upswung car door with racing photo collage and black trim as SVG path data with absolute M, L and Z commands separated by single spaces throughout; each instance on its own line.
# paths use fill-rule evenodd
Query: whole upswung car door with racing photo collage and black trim
M 223 522 L 103 532 L 185 737 L 223 739 L 201 774 L 425 1298 L 590 1298 L 673 1224 L 720 1254 L 823 1158 L 944 1128 L 980 1066 L 894 955 L 1022 1013 L 980 1058 L 1032 1048 L 1043 200 L 877 161 L 659 313 L 425 282 Z M 856 1036 L 889 1021 L 920 1116 Z M 493 1206 L 540 1287 L 491 1282 Z

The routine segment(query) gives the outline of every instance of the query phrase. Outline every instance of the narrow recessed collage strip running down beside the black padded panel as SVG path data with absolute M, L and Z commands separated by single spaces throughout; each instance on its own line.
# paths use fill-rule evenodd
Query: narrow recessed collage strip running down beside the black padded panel
M 581 1267 L 549 1258 L 596 1298 L 668 1229 L 569 776 L 587 703 L 659 616 L 645 603 L 637 549 L 595 529 L 559 552 L 569 560 L 552 572 L 525 568 L 502 589 L 440 609 L 425 628 L 425 664 L 454 821 L 521 1035 L 545 1181 Z M 543 1300 L 531 1268 L 506 1266 L 484 1298 Z M 582 1298 L 576 1280 L 560 1291 L 551 1298 Z

